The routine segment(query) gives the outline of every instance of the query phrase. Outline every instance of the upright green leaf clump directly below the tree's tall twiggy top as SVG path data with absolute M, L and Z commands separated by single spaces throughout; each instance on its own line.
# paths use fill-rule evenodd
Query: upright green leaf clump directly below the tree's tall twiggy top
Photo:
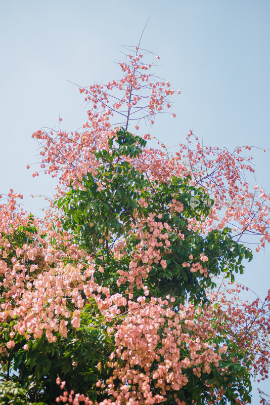
M 88 173 L 83 178 L 83 190 L 70 185 L 70 191 L 57 201 L 65 213 L 64 229 L 71 229 L 74 239 L 89 252 L 97 252 L 101 245 L 99 239 L 104 239 L 108 232 L 117 237 L 124 234 L 130 226 L 133 210 L 139 207 L 140 191 L 148 185 L 142 173 L 127 161 L 119 160 L 120 156 L 139 156 L 146 141 L 124 130 L 117 132 L 117 138 L 114 139 L 119 145 L 117 149 L 110 139 L 111 149 L 97 153 L 98 160 L 104 164 L 95 176 Z M 105 244 L 104 240 L 103 246 Z

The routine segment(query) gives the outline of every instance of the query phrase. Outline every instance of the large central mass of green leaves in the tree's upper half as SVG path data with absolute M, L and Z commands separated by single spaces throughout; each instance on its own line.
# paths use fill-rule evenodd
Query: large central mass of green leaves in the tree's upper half
M 169 249 L 164 246 L 160 248 L 162 259 L 166 260 L 166 269 L 160 263 L 153 263 L 144 283 L 156 297 L 171 294 L 178 297 L 176 303 L 183 303 L 187 298 L 195 304 L 201 300 L 206 303 L 206 288 L 215 286 L 211 276 L 225 272 L 233 280 L 234 272 L 243 272 L 242 259 L 251 259 L 252 253 L 232 239 L 229 228 L 213 230 L 204 236 L 188 227 L 189 219 L 193 219 L 196 225 L 202 215 L 204 218 L 208 216 L 210 207 L 203 204 L 205 199 L 209 199 L 208 195 L 203 188 L 189 184 L 189 175 L 184 179 L 172 177 L 170 182 L 159 184 L 134 169 L 124 157 L 139 157 L 141 147 L 145 145 L 145 140 L 124 129 L 110 139 L 110 149 L 97 153 L 102 165 L 96 170 L 95 176 L 88 173 L 81 187 L 70 185 L 65 197 L 57 201 L 58 207 L 65 214 L 63 228 L 72 233 L 80 247 L 91 254 L 94 252 L 97 264 L 104 267 L 104 274 L 97 276 L 98 281 L 112 291 L 117 289 L 123 292 L 126 288 L 119 288 L 116 284 L 117 270 L 129 271 L 131 256 L 136 250 L 136 230 L 132 231 L 134 215 L 143 219 L 154 213 L 156 221 L 170 226 L 171 245 Z M 192 196 L 200 201 L 196 209 L 190 204 Z M 145 199 L 147 207 L 141 207 L 138 203 L 141 198 Z M 173 199 L 183 204 L 182 212 L 171 212 L 170 203 Z M 158 214 L 162 214 L 161 219 Z M 144 224 L 143 230 L 151 233 L 147 224 Z M 184 239 L 179 236 L 179 232 Z M 121 237 L 124 237 L 126 243 L 125 254 L 121 260 L 115 261 L 110 246 Z M 208 269 L 207 277 L 183 267 L 184 262 L 191 262 L 190 255 L 194 258 L 192 262 L 196 263 L 200 261 L 202 253 L 208 257 L 204 264 Z M 138 295 L 141 293 L 139 291 Z

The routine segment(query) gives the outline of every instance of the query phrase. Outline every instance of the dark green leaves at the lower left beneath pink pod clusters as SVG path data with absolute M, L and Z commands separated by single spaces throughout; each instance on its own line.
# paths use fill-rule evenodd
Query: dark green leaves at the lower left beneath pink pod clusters
M 8 357 L 2 357 L 19 374 L 13 378 L 27 389 L 31 401 L 46 401 L 48 405 L 54 403 L 56 396 L 62 393 L 56 385 L 57 377 L 66 382 L 67 389 L 76 387 L 79 392 L 97 398 L 97 379 L 107 378 L 110 370 L 106 361 L 114 346 L 94 299 L 90 299 L 82 309 L 80 328 L 74 330 L 70 323 L 67 328 L 67 337 L 57 334 L 55 343 L 49 343 L 44 334 L 39 339 L 28 341 L 23 336 L 16 336 L 15 347 Z M 8 325 L 3 330 L 6 333 L 2 332 L 2 341 L 7 342 Z M 28 350 L 23 349 L 26 343 Z M 99 370 L 100 361 L 103 367 Z

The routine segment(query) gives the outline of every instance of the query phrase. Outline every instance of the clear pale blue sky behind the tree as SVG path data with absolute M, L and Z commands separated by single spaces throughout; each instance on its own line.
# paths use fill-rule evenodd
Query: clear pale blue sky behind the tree
M 43 200 L 30 195 L 52 196 L 56 182 L 33 179 L 38 166 L 26 170 L 39 160 L 31 134 L 57 128 L 59 114 L 62 129 L 80 128 L 83 98 L 67 80 L 88 86 L 120 77 L 112 62 L 123 59 L 119 46 L 137 45 L 149 16 L 141 45 L 160 56 L 157 73 L 182 92 L 176 118 L 160 116 L 151 135 L 174 145 L 193 129 L 204 145 L 268 149 L 252 154 L 256 182 L 270 192 L 269 0 L 9 0 L 0 4 L 0 194 L 13 187 L 42 215 Z M 255 254 L 241 278 L 263 297 L 269 251 Z

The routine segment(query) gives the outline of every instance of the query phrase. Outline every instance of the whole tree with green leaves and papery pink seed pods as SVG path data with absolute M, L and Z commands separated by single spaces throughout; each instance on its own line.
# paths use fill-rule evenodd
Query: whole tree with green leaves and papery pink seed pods
M 18 211 L 13 190 L 1 206 L 2 378 L 48 405 L 247 403 L 253 370 L 267 377 L 270 294 L 240 307 L 217 282 L 238 293 L 252 258 L 240 238 L 269 240 L 269 198 L 241 180 L 241 148 L 193 151 L 191 132 L 170 155 L 128 132 L 174 93 L 133 51 L 119 81 L 80 88 L 93 102 L 81 134 L 33 134 L 41 168 L 61 174 L 46 218 Z

